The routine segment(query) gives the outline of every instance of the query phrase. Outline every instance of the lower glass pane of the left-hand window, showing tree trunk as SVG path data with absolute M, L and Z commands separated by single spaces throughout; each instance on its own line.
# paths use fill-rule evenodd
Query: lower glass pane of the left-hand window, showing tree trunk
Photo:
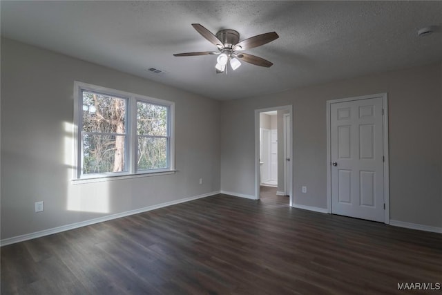
M 83 173 L 126 171 L 126 136 L 83 133 Z

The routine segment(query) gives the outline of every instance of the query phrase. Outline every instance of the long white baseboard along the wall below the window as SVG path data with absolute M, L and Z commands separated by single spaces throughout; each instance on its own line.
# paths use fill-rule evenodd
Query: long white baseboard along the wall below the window
M 10 244 L 14 244 L 16 242 L 23 242 L 25 240 L 32 240 L 33 238 L 40 238 L 42 236 L 49 236 L 51 234 L 57 234 L 57 233 L 60 233 L 61 231 L 68 231 L 70 229 L 77 229 L 79 227 L 86 227 L 87 225 L 94 225 L 95 223 L 99 223 L 99 222 L 104 222 L 104 221 L 113 220 L 113 219 L 116 219 L 116 218 L 122 218 L 122 217 L 125 217 L 125 216 L 130 216 L 130 215 L 137 214 L 137 213 L 142 213 L 142 212 L 146 212 L 146 211 L 160 209 L 162 207 L 167 207 L 167 206 L 171 206 L 171 205 L 174 205 L 174 204 L 180 204 L 182 202 L 189 202 L 189 201 L 197 200 L 197 199 L 200 199 L 200 198 L 206 198 L 206 197 L 209 197 L 209 196 L 218 195 L 218 193 L 220 193 L 220 191 L 212 191 L 211 193 L 204 193 L 204 194 L 199 195 L 199 196 L 183 198 L 183 199 L 180 199 L 180 200 L 175 200 L 175 201 L 171 201 L 171 202 L 165 202 L 165 203 L 162 203 L 162 204 L 155 204 L 155 205 L 144 207 L 144 208 L 140 208 L 140 209 L 135 209 L 135 210 L 131 210 L 131 211 L 124 211 L 124 212 L 121 212 L 121 213 L 115 213 L 115 214 L 111 214 L 111 215 L 108 215 L 108 216 L 103 216 L 103 217 L 99 217 L 99 218 L 94 218 L 94 219 L 90 219 L 90 220 L 76 222 L 76 223 L 72 223 L 70 225 L 63 225 L 61 227 L 54 227 L 52 229 L 44 229 L 43 231 L 36 231 L 35 233 L 24 234 L 24 235 L 15 236 L 15 237 L 12 237 L 12 238 L 5 238 L 3 240 L 0 240 L 0 247 L 6 246 L 6 245 L 10 245 Z

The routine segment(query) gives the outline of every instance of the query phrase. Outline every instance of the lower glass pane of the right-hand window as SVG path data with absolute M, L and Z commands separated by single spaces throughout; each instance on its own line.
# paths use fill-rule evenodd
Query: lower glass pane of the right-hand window
M 138 170 L 167 168 L 167 138 L 138 137 Z

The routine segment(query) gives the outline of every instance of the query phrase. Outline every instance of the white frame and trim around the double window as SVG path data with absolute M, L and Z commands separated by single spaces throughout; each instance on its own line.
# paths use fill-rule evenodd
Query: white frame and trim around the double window
M 83 174 L 83 144 L 82 144 L 82 123 L 83 123 L 83 91 L 103 94 L 112 97 L 126 99 L 126 149 L 124 151 L 126 171 L 90 173 Z M 167 167 L 162 169 L 137 169 L 138 135 L 137 135 L 137 103 L 144 102 L 166 106 L 167 108 L 167 140 L 166 146 Z M 84 82 L 74 82 L 74 169 L 73 182 L 97 182 L 104 180 L 139 178 L 151 175 L 163 175 L 175 173 L 175 103 L 164 99 L 157 99 L 145 95 L 128 93 L 112 88 L 87 84 Z

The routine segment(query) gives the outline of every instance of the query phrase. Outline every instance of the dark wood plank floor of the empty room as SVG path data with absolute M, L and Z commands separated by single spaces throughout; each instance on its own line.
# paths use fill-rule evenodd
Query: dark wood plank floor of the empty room
M 271 189 L 1 248 L 2 295 L 410 294 L 398 283 L 415 282 L 442 283 L 441 234 L 294 209 Z

